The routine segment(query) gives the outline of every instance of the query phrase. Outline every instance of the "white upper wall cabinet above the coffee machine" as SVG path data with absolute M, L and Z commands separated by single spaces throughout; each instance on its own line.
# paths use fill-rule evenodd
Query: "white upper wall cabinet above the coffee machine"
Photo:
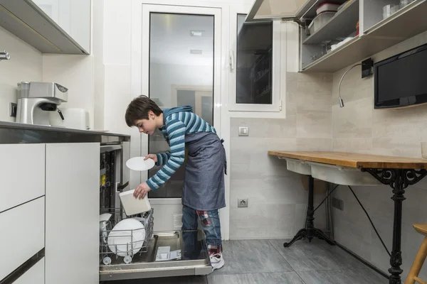
M 91 0 L 0 0 L 0 25 L 41 53 L 89 54 Z

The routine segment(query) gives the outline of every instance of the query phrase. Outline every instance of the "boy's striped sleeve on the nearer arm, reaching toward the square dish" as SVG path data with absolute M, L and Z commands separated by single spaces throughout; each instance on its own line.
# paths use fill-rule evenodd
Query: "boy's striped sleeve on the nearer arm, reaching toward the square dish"
M 185 129 L 185 124 L 178 119 L 167 121 L 166 131 L 169 135 L 169 144 L 171 146 L 170 158 L 163 168 L 147 180 L 147 185 L 152 190 L 157 190 L 164 182 L 167 182 L 184 163 Z

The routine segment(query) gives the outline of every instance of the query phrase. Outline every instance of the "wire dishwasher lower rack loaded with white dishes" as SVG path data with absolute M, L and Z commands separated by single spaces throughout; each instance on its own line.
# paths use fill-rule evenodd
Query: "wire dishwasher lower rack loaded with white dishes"
M 101 213 L 110 213 L 112 217 L 104 222 L 100 222 L 100 263 L 110 265 L 112 259 L 115 262 L 120 261 L 122 258 L 124 263 L 132 263 L 132 258 L 135 255 L 147 252 L 149 239 L 153 234 L 153 209 L 142 214 L 133 216 L 126 216 L 121 208 L 103 209 Z M 141 229 L 120 229 L 113 230 L 113 228 L 122 220 L 135 219 L 144 225 Z M 110 234 L 113 232 L 112 236 Z M 118 236 L 115 236 L 115 234 Z M 138 238 L 137 236 L 142 236 Z M 111 241 L 109 238 L 114 238 L 116 241 Z M 123 241 L 120 239 L 126 239 Z M 139 249 L 140 248 L 140 249 Z

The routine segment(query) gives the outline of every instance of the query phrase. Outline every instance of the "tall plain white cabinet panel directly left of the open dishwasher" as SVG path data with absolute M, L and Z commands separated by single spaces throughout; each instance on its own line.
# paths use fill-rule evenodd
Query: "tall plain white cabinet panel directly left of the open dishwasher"
M 46 284 L 99 278 L 99 143 L 46 144 Z

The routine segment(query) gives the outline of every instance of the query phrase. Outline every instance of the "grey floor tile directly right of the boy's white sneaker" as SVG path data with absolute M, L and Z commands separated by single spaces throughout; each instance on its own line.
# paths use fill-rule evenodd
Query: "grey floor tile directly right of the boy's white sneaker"
M 267 240 L 224 241 L 223 268 L 214 274 L 286 272 L 292 268 Z

